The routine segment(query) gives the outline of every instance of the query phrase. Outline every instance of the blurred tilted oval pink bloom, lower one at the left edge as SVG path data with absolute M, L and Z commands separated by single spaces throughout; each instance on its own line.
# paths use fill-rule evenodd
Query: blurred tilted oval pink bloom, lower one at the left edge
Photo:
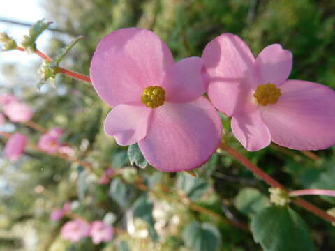
M 27 137 L 20 132 L 14 133 L 7 141 L 5 146 L 5 156 L 12 161 L 18 160 L 26 148 Z

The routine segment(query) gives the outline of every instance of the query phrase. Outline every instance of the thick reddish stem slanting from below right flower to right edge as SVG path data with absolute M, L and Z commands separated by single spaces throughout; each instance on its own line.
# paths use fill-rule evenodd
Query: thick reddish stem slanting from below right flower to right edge
M 262 178 L 262 180 L 265 181 L 265 183 L 267 183 L 268 185 L 274 188 L 281 188 L 285 191 L 288 191 L 288 188 L 285 188 L 285 186 L 281 185 L 281 183 L 278 183 L 278 181 L 274 180 L 274 178 L 271 178 L 271 176 L 263 172 L 260 168 L 254 165 L 250 160 L 245 158 L 244 155 L 241 155 L 241 153 L 233 149 L 231 146 L 228 146 L 228 144 L 221 143 L 220 148 L 225 150 L 230 155 L 232 155 L 232 157 L 234 157 L 239 162 L 241 162 L 242 165 L 244 165 L 249 170 L 251 170 L 251 172 L 253 172 L 255 175 Z M 325 220 L 328 220 L 329 222 L 335 222 L 335 218 L 333 216 L 329 215 L 325 211 L 322 211 L 317 206 L 310 204 L 304 199 L 295 199 L 293 202 L 305 208 L 307 211 L 310 211 L 311 213 L 318 215 L 320 218 L 324 218 Z

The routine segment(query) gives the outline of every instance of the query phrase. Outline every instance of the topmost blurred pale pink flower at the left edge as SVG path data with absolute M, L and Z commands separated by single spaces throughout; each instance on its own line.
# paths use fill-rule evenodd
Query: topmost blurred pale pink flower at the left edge
M 3 112 L 13 123 L 27 122 L 33 116 L 33 110 L 24 102 L 9 102 L 4 105 Z

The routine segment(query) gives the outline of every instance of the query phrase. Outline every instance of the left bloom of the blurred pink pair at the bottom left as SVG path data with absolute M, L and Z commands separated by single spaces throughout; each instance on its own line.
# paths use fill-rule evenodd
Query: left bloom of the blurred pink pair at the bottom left
M 89 236 L 91 226 L 84 220 L 72 220 L 61 227 L 61 236 L 73 243 Z

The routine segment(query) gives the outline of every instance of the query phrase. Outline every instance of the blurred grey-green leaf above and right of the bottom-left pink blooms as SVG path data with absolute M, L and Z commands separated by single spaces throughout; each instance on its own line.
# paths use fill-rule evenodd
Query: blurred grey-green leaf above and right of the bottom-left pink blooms
M 117 201 L 117 204 L 121 208 L 128 208 L 131 206 L 133 199 L 135 198 L 135 190 L 130 185 L 125 185 L 121 178 L 114 178 L 110 184 L 110 191 L 108 192 L 110 197 Z

